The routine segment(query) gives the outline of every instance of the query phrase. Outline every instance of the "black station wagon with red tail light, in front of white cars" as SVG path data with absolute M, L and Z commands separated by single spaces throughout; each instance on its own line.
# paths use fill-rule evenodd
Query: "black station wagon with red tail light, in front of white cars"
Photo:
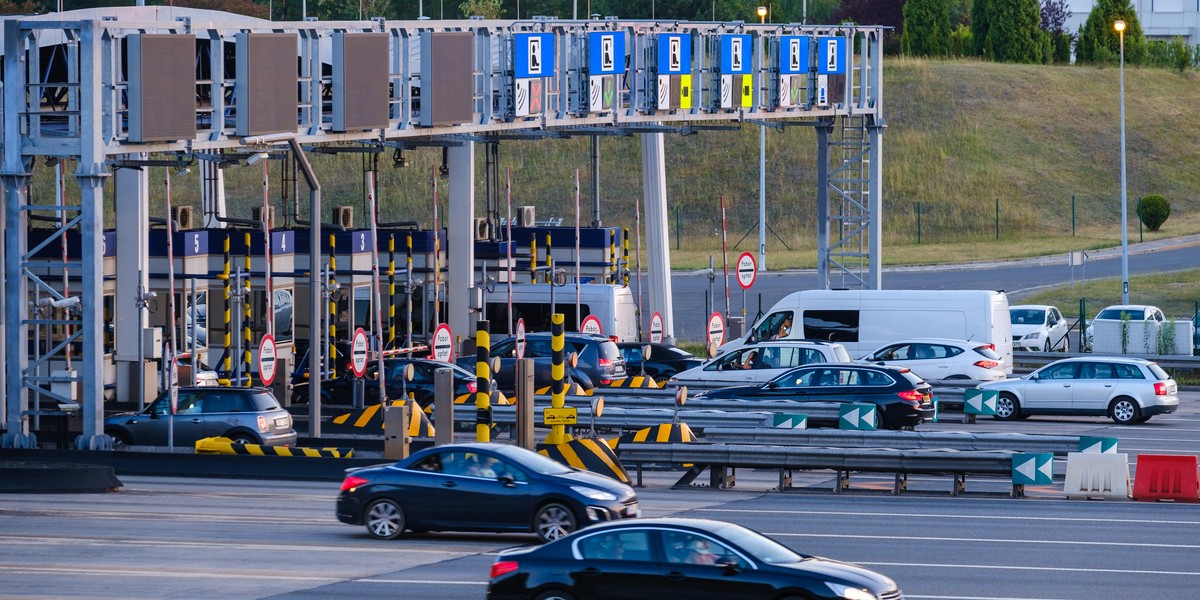
M 706 390 L 696 398 L 788 400 L 820 403 L 871 403 L 881 428 L 916 427 L 934 416 L 924 379 L 907 368 L 823 362 L 793 368 L 762 385 Z M 814 424 L 810 416 L 809 422 Z M 830 421 L 836 426 L 835 421 Z

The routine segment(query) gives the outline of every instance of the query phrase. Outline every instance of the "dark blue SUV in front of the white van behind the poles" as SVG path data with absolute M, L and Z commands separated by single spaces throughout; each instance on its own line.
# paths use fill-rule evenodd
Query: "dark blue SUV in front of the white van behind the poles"
M 574 368 L 565 365 L 565 378 L 568 383 L 577 383 L 583 388 L 596 388 L 608 385 L 614 379 L 625 377 L 625 359 L 617 348 L 617 342 L 592 334 L 566 334 L 564 336 L 563 353 L 569 360 L 571 353 L 578 355 L 578 361 Z M 551 335 L 529 334 L 526 336 L 524 358 L 533 359 L 534 386 L 545 388 L 551 384 Z M 497 388 L 505 394 L 512 392 L 516 388 L 516 358 L 517 340 L 505 337 L 492 343 L 492 356 L 500 359 L 500 370 L 492 374 Z M 468 371 L 475 371 L 475 356 L 461 356 L 458 365 Z

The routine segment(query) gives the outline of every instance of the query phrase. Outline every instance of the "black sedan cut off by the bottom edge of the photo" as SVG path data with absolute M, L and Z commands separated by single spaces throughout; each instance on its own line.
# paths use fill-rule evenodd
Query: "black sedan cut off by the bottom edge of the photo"
M 738 524 L 640 518 L 500 552 L 487 598 L 899 600 L 904 594 L 875 571 L 793 552 Z

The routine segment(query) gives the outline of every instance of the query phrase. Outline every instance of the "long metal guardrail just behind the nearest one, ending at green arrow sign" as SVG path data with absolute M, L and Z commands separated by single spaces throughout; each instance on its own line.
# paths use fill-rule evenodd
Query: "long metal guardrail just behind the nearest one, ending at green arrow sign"
M 775 427 L 709 427 L 704 442 L 724 444 L 767 444 L 824 448 L 890 448 L 896 450 L 1012 450 L 1078 452 L 1078 436 L 1036 433 L 973 433 L 932 431 L 782 430 Z

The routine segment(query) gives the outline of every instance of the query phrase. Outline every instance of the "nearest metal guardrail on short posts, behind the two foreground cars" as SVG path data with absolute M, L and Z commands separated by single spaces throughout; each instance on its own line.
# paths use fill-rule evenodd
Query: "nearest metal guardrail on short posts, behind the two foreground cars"
M 617 455 L 624 464 L 637 468 L 637 485 L 642 485 L 642 466 L 648 463 L 691 464 L 673 487 L 689 486 L 707 468 L 709 486 L 733 487 L 737 468 L 779 469 L 779 488 L 792 486 L 793 470 L 832 469 L 838 473 L 834 493 L 850 487 L 851 472 L 894 473 L 893 493 L 907 488 L 908 474 L 952 474 L 952 496 L 966 491 L 968 474 L 1009 475 L 1013 455 L 1007 450 L 895 450 L 808 448 L 757 444 L 622 444 Z M 1025 496 L 1025 486 L 1013 484 L 1013 497 Z

